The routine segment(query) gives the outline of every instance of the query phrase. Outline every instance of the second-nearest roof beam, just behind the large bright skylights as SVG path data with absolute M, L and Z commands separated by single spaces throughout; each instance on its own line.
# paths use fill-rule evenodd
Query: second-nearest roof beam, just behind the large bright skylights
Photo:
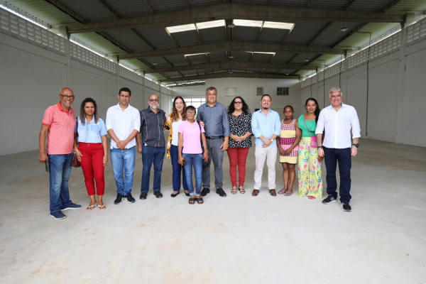
M 191 45 L 182 48 L 168 48 L 163 50 L 150 50 L 141 53 L 118 55 L 119 60 L 131 58 L 151 58 L 167 55 L 217 53 L 222 51 L 257 51 L 264 53 L 321 53 L 321 54 L 345 54 L 346 50 L 337 48 L 311 48 L 307 46 L 280 45 L 268 43 L 243 43 L 225 41 L 222 43 L 209 43 L 203 45 Z

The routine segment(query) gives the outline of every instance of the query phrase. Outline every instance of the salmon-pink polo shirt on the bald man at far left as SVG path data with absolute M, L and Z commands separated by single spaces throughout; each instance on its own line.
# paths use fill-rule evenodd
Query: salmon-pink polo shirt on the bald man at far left
M 48 126 L 48 154 L 72 153 L 74 148 L 75 111 L 62 109 L 60 102 L 46 109 L 41 124 Z

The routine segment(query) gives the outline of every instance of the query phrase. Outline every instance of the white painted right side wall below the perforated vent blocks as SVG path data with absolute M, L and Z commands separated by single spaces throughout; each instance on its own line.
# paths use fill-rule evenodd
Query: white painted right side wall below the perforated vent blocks
M 394 142 L 400 136 L 400 143 L 426 147 L 426 128 L 422 113 L 426 104 L 426 40 L 410 45 L 405 49 L 405 72 L 400 77 L 400 53 L 395 52 L 370 62 L 368 84 L 368 126 L 366 124 L 367 109 L 367 72 L 366 64 L 348 72 L 347 93 L 343 102 L 355 107 L 361 124 L 361 136 L 380 141 Z M 344 89 L 344 75 L 341 77 L 341 88 Z M 402 103 L 399 101 L 400 84 L 404 84 Z M 329 89 L 339 87 L 339 76 L 326 80 L 326 104 Z M 314 97 L 323 108 L 323 84 L 312 85 L 300 90 L 300 105 Z M 402 108 L 402 121 L 397 120 L 398 109 Z M 401 133 L 397 124 L 402 123 Z M 366 130 L 368 135 L 366 136 Z

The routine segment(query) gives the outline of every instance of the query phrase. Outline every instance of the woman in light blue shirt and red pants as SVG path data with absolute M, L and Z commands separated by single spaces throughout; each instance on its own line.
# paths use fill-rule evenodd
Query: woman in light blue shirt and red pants
M 98 204 L 99 209 L 104 210 L 106 207 L 102 196 L 105 189 L 104 166 L 108 163 L 107 127 L 104 121 L 98 118 L 94 99 L 87 98 L 82 102 L 74 137 L 74 151 L 82 164 L 84 183 L 90 197 L 86 210 L 92 211 Z M 94 181 L 98 201 L 94 197 Z

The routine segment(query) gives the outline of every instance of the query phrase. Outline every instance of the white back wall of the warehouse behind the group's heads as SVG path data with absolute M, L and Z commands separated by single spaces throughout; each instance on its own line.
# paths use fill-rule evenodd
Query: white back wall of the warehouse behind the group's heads
M 276 80 L 276 79 L 246 79 L 246 78 L 223 78 L 206 80 L 204 86 L 176 87 L 173 88 L 173 96 L 205 97 L 207 87 L 216 87 L 217 102 L 228 107 L 234 97 L 225 96 L 225 88 L 236 87 L 238 95 L 244 98 L 249 105 L 250 112 L 260 108 L 261 96 L 256 96 L 256 88 L 263 87 L 263 93 L 271 95 L 271 109 L 278 111 L 283 117 L 283 108 L 290 104 L 296 114 L 300 113 L 300 87 L 299 80 Z M 288 96 L 277 96 L 277 87 L 290 87 Z

